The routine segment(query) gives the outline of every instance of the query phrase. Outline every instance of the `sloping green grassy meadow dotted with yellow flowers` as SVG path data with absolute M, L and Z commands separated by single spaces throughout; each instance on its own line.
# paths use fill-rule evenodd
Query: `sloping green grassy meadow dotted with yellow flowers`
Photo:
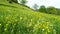
M 0 34 L 60 34 L 60 16 L 0 0 Z

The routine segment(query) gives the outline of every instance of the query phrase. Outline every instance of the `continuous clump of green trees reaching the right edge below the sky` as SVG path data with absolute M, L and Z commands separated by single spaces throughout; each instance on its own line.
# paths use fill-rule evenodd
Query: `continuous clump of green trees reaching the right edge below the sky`
M 50 6 L 50 7 L 45 8 L 45 6 L 42 5 L 39 8 L 39 12 L 60 15 L 60 9 L 57 9 L 57 8 L 55 8 L 53 6 Z

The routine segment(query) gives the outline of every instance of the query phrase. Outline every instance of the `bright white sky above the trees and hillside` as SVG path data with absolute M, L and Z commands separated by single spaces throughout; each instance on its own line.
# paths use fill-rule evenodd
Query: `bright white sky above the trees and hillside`
M 60 8 L 60 0 L 27 0 L 27 6 L 33 8 L 34 4 L 38 6 L 44 5 L 46 7 L 54 6 L 56 8 Z

